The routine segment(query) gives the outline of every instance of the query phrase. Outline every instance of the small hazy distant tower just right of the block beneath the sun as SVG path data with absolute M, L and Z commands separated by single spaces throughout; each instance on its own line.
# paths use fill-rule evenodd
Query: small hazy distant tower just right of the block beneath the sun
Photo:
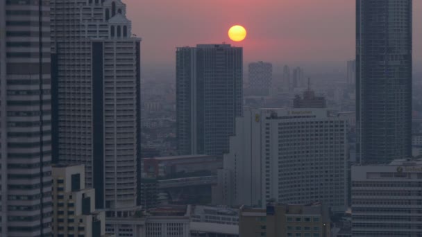
M 249 89 L 254 96 L 269 96 L 273 80 L 273 64 L 252 62 L 248 66 Z

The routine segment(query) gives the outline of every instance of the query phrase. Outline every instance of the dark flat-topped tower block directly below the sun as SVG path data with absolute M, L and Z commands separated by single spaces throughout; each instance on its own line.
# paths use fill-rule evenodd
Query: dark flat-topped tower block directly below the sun
M 242 54 L 230 44 L 176 51 L 176 110 L 180 155 L 222 155 L 242 116 Z

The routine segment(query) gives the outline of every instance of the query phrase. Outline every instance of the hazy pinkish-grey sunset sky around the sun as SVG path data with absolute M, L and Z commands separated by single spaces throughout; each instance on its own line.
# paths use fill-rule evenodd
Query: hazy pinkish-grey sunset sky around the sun
M 244 61 L 341 66 L 355 57 L 355 0 L 123 0 L 142 37 L 142 66 L 174 67 L 177 46 L 226 42 Z M 422 0 L 414 0 L 414 12 Z M 414 61 L 422 57 L 422 14 L 414 14 Z M 230 42 L 240 24 L 246 40 Z M 417 40 L 416 40 L 417 39 Z

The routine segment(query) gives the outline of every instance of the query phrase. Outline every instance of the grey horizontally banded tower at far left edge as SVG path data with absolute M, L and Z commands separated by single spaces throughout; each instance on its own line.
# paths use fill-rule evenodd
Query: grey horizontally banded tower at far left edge
M 0 1 L 0 236 L 51 235 L 49 1 Z

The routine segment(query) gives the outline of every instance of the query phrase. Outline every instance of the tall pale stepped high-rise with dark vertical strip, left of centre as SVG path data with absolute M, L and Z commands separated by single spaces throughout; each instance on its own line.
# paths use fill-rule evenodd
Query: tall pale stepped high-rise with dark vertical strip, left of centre
M 140 38 L 121 0 L 51 0 L 53 151 L 85 164 L 97 209 L 140 200 Z

